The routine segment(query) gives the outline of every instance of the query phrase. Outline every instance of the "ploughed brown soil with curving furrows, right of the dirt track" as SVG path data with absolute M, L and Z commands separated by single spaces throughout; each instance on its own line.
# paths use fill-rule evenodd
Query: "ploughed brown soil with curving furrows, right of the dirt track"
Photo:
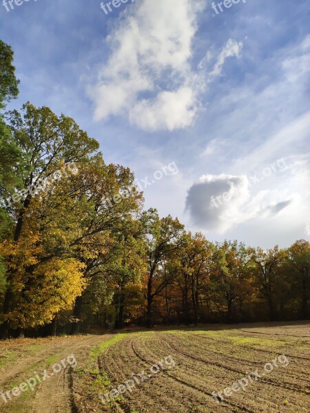
M 221 330 L 216 327 L 128 335 L 101 357 L 101 373 L 111 381 L 103 390 L 105 394 L 131 379 L 132 373 L 149 372 L 154 363 L 169 355 L 176 366 L 153 374 L 132 392 L 118 394 L 110 405 L 102 403 L 101 410 L 96 411 L 309 412 L 309 327 L 307 323 L 222 326 Z M 287 366 L 285 360 L 289 361 Z M 265 372 L 266 363 L 272 364 L 272 371 Z M 257 380 L 251 375 L 256 369 L 261 376 Z M 223 392 L 248 374 L 253 383 L 216 402 L 213 392 Z M 93 410 L 89 406 L 84 411 Z

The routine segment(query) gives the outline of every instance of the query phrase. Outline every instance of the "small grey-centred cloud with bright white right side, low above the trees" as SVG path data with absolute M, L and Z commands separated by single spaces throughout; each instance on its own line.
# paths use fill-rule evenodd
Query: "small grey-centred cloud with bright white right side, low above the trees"
M 203 229 L 225 233 L 251 218 L 271 218 L 289 207 L 293 199 L 278 190 L 251 194 L 247 176 L 204 175 L 187 193 L 186 209 L 192 222 Z

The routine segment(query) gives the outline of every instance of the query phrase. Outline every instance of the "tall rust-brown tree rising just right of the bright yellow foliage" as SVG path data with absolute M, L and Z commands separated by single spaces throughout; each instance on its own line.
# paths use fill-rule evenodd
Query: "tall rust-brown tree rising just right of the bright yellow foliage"
M 105 165 L 99 155 L 79 169 L 67 191 L 70 197 L 83 200 L 88 211 L 86 219 L 81 220 L 81 235 L 72 242 L 72 247 L 75 256 L 85 263 L 84 276 L 89 280 L 105 271 L 112 240 L 127 233 L 127 224 L 141 209 L 143 197 L 136 189 L 130 169 Z M 85 254 L 85 251 L 89 252 Z M 74 334 L 79 332 L 82 305 L 83 297 L 77 297 Z

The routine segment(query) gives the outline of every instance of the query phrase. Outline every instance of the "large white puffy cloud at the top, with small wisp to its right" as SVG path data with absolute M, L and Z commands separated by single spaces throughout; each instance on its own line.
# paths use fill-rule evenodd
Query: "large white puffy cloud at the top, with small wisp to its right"
M 207 81 L 191 67 L 198 15 L 205 6 L 203 0 L 142 0 L 125 10 L 107 38 L 110 58 L 98 83 L 88 88 L 95 120 L 123 115 L 149 131 L 192 125 Z M 211 76 L 220 74 L 227 57 L 239 56 L 241 47 L 229 39 Z

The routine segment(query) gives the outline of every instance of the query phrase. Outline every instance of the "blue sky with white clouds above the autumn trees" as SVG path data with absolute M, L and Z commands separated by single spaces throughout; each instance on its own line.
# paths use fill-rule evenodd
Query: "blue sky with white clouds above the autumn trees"
M 9 109 L 71 116 L 211 241 L 310 240 L 309 0 L 2 1 Z

